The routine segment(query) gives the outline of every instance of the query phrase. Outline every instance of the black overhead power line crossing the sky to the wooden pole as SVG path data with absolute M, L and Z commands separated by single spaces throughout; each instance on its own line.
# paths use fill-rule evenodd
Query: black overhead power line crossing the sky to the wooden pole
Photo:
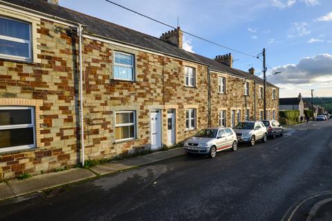
M 167 27 L 169 27 L 169 28 L 176 29 L 176 27 L 171 26 L 171 25 L 169 25 L 169 24 L 167 24 L 167 23 L 165 23 L 165 22 L 163 22 L 163 21 L 159 21 L 159 20 L 154 19 L 154 18 L 152 18 L 152 17 L 149 17 L 149 16 L 147 16 L 147 15 L 143 15 L 143 14 L 140 13 L 140 12 L 136 12 L 135 10 L 132 10 L 132 9 L 130 9 L 130 8 L 127 8 L 127 7 L 121 6 L 120 4 L 115 3 L 115 2 L 113 2 L 113 1 L 110 1 L 110 0 L 105 0 L 105 1 L 107 1 L 108 3 L 112 3 L 113 5 L 118 6 L 118 7 L 120 7 L 120 8 L 123 8 L 123 9 L 125 9 L 125 10 L 129 10 L 130 12 L 133 12 L 133 13 L 135 13 L 135 14 L 137 14 L 137 15 L 140 15 L 140 16 L 145 17 L 145 18 L 147 18 L 147 19 L 150 19 L 150 20 L 152 20 L 152 21 L 156 21 L 157 23 L 160 23 L 160 24 L 162 24 L 162 25 L 164 25 L 164 26 L 167 26 Z M 208 42 L 208 43 L 210 43 L 210 44 L 214 44 L 214 45 L 216 45 L 216 46 L 219 46 L 219 47 L 221 47 L 221 48 L 226 48 L 226 49 L 228 49 L 228 50 L 232 50 L 232 51 L 234 51 L 234 52 L 238 52 L 238 53 L 240 53 L 240 54 L 242 54 L 242 55 L 246 55 L 246 56 L 249 56 L 249 57 L 255 57 L 255 58 L 257 58 L 255 55 L 250 55 L 250 54 L 248 54 L 248 53 L 246 53 L 246 52 L 242 52 L 242 51 L 240 51 L 240 50 L 236 50 L 236 49 L 230 48 L 230 47 L 228 47 L 228 46 L 223 46 L 223 45 L 218 44 L 218 43 L 216 43 L 216 42 L 214 42 L 214 41 L 210 41 L 210 40 L 205 39 L 205 38 L 203 38 L 203 37 L 199 37 L 198 35 L 194 35 L 194 34 L 192 34 L 192 33 L 190 33 L 190 32 L 186 32 L 186 31 L 184 31 L 184 30 L 182 30 L 182 32 L 185 33 L 185 34 L 187 34 L 187 35 L 190 35 L 190 36 L 192 36 L 192 37 L 196 37 L 197 39 L 201 39 L 201 40 L 203 40 L 203 41 L 206 41 L 206 42 Z

